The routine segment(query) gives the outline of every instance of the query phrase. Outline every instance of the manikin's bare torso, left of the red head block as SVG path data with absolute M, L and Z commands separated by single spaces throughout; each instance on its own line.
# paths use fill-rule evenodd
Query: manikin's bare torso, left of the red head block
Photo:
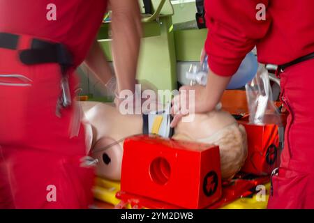
M 120 180 L 124 139 L 142 132 L 142 116 L 121 115 L 112 104 L 80 102 L 84 112 L 87 145 L 90 155 L 98 160 L 96 174 L 110 180 Z M 88 127 L 88 124 L 87 124 Z

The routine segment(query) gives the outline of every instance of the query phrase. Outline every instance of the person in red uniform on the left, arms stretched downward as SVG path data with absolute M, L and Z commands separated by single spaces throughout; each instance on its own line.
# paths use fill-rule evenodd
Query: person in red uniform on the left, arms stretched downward
M 137 0 L 0 0 L 0 208 L 91 204 L 74 70 L 85 60 L 103 84 L 112 79 L 96 42 L 107 4 L 117 91 L 134 91 Z

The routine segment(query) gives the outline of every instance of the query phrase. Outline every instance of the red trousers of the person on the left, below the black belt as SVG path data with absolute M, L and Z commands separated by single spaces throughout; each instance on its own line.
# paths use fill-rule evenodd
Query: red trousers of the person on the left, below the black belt
M 17 50 L 2 48 L 0 59 L 0 208 L 88 208 L 94 169 L 80 165 L 87 153 L 82 126 L 69 135 L 75 109 L 56 116 L 59 65 L 25 66 Z M 74 96 L 77 81 L 69 78 Z

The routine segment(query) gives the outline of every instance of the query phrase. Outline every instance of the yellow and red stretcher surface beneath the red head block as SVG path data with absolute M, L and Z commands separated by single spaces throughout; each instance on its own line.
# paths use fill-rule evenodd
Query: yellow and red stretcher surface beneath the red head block
M 244 176 L 244 175 L 242 175 Z M 269 198 L 270 183 L 269 177 L 257 177 L 237 179 L 224 183 L 223 196 L 219 201 L 209 206 L 209 209 L 264 209 L 267 208 Z M 264 197 L 258 194 L 257 185 L 263 185 L 265 189 Z M 149 209 L 178 209 L 178 206 L 153 201 L 133 194 L 126 194 L 120 191 L 120 183 L 103 178 L 96 179 L 94 187 L 94 197 L 99 201 L 110 203 L 115 208 L 149 208 Z

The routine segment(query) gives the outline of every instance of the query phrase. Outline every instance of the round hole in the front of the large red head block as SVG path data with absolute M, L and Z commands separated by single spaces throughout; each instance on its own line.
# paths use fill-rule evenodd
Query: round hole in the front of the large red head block
M 171 174 L 169 162 L 163 157 L 157 157 L 149 166 L 149 175 L 151 180 L 159 185 L 165 185 Z

